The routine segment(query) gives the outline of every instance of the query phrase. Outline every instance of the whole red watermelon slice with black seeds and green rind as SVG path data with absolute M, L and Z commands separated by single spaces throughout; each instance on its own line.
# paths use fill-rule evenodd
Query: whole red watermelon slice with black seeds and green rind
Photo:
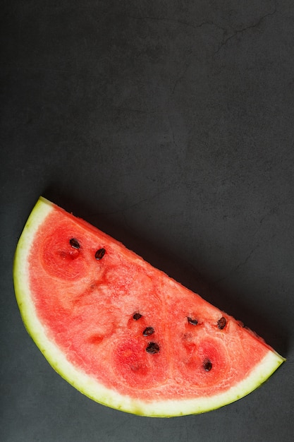
M 255 390 L 285 360 L 232 316 L 42 197 L 13 275 L 25 326 L 51 366 L 118 410 L 213 410 Z

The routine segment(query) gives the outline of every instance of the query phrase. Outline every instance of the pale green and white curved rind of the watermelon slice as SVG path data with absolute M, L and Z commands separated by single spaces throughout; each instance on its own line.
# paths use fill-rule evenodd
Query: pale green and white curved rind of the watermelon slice
M 81 393 L 102 405 L 142 416 L 175 417 L 186 414 L 200 414 L 223 407 L 248 395 L 267 381 L 269 376 L 285 361 L 280 354 L 274 350 L 269 350 L 264 359 L 252 369 L 247 378 L 244 378 L 243 381 L 240 381 L 226 392 L 210 397 L 187 400 L 175 398 L 174 400 L 151 402 L 130 398 L 130 396 L 121 395 L 115 390 L 106 388 L 102 383 L 88 376 L 66 359 L 66 354 L 61 352 L 59 347 L 47 335 L 44 325 L 37 317 L 31 299 L 27 265 L 30 245 L 37 229 L 42 225 L 51 210 L 54 210 L 54 207 L 56 207 L 54 203 L 40 197 L 35 208 L 33 208 L 18 241 L 13 265 L 13 280 L 16 299 L 27 332 L 54 370 Z

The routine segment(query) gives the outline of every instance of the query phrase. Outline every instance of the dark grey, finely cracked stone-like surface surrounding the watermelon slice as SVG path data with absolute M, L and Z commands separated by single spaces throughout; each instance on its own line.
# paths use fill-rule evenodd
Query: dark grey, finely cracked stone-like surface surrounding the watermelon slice
M 1 4 L 1 440 L 292 441 L 291 1 Z M 246 398 L 152 419 L 58 376 L 14 297 L 39 195 L 120 239 L 287 357 Z

